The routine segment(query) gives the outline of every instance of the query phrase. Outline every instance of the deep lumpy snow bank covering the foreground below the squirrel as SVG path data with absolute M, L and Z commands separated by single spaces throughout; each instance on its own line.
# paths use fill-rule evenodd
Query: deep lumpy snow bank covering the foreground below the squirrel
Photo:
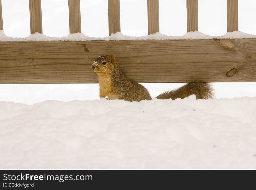
M 0 102 L 1 169 L 256 169 L 256 97 Z

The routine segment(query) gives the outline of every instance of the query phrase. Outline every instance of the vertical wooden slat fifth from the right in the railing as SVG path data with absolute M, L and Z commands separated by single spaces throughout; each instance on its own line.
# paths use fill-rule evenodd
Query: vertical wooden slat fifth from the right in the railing
M 68 0 L 69 32 L 81 33 L 80 0 Z

